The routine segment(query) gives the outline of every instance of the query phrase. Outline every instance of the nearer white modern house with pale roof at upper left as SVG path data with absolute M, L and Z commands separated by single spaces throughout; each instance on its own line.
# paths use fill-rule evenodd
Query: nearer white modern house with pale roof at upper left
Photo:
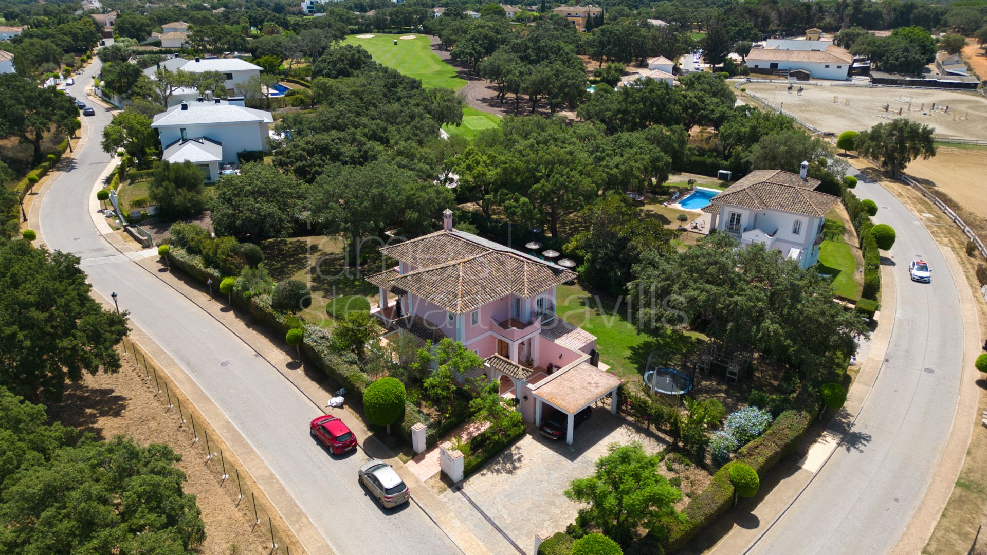
M 267 150 L 273 122 L 269 112 L 237 104 L 183 102 L 155 116 L 151 127 L 160 135 L 162 160 L 191 162 L 211 182 L 221 164 L 238 162 L 239 152 Z

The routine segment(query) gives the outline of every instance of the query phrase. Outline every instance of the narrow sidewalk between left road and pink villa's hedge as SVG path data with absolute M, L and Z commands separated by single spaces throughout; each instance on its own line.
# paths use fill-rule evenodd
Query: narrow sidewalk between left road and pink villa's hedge
M 221 295 L 210 298 L 208 290 L 198 281 L 194 281 L 182 273 L 161 272 L 164 267 L 161 266 L 156 257 L 144 259 L 137 264 L 184 294 L 198 307 L 208 312 L 227 329 L 240 337 L 261 357 L 264 357 L 272 366 L 277 368 L 281 375 L 291 381 L 323 412 L 339 417 L 356 436 L 366 437 L 362 445 L 364 452 L 394 466 L 412 490 L 413 501 L 464 553 L 470 555 L 490 553 L 459 517 L 453 514 L 407 465 L 401 462 L 390 449 L 363 426 L 362 419 L 346 409 L 345 406 L 343 408 L 327 407 L 335 386 L 329 384 L 329 380 L 322 370 L 296 360 L 293 357 L 294 350 L 287 345 L 275 347 L 275 342 L 283 342 L 277 342 L 276 338 L 267 335 L 265 329 L 254 327 L 241 320 L 237 313 L 226 305 L 225 299 L 220 298 Z

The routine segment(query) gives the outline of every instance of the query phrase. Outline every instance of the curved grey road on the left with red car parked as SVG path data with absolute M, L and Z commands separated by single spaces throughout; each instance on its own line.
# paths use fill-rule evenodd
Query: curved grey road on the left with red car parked
M 97 60 L 69 92 L 87 102 L 83 89 L 99 68 Z M 97 232 L 88 206 L 93 184 L 110 162 L 100 140 L 111 119 L 98 106 L 96 116 L 86 118 L 85 146 L 44 198 L 40 227 L 48 247 L 82 258 L 89 280 L 103 296 L 118 293 L 120 308 L 130 311 L 132 323 L 175 358 L 223 410 L 338 554 L 458 553 L 415 504 L 397 511 L 378 509 L 356 482 L 365 455 L 356 451 L 331 457 L 309 437 L 308 422 L 321 411 L 236 335 L 121 256 Z M 223 360 L 232 363 L 220 367 Z

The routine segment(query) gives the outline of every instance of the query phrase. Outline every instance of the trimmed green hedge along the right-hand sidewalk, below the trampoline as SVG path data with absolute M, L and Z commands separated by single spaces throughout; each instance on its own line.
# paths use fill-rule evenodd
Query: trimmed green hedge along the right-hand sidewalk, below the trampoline
M 811 422 L 812 414 L 809 412 L 786 411 L 775 419 L 764 435 L 741 447 L 734 460 L 750 465 L 759 476 L 763 476 L 778 461 L 796 451 Z M 733 463 L 718 470 L 710 485 L 689 501 L 682 511 L 684 518 L 666 516 L 661 519 L 661 524 L 668 530 L 664 539 L 665 551 L 682 549 L 696 533 L 729 509 L 733 503 L 730 464 Z

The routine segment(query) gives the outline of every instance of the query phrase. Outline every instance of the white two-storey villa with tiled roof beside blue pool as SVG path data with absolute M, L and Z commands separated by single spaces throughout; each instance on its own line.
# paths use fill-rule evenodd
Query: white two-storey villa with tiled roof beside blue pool
M 704 212 L 713 214 L 710 229 L 739 239 L 741 245 L 762 243 L 809 268 L 819 261 L 826 213 L 838 197 L 815 191 L 819 180 L 782 170 L 753 171 L 726 188 Z

